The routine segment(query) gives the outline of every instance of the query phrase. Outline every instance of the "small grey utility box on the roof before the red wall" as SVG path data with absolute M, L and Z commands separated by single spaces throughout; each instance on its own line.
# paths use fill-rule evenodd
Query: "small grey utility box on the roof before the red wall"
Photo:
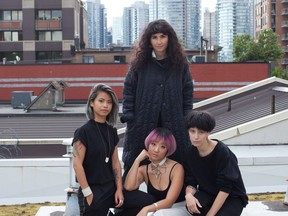
M 11 106 L 25 109 L 31 103 L 31 98 L 34 95 L 33 91 L 13 91 L 11 95 Z

